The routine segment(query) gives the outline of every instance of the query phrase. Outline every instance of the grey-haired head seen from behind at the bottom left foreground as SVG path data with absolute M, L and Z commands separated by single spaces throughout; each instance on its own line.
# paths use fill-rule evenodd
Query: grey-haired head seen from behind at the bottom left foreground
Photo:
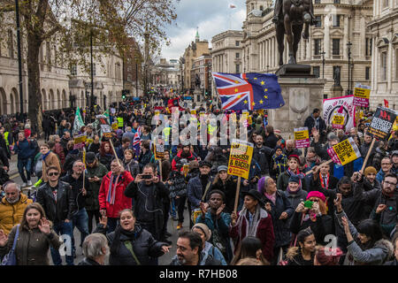
M 83 242 L 84 259 L 79 265 L 104 265 L 109 254 L 108 240 L 102 233 L 89 234 Z

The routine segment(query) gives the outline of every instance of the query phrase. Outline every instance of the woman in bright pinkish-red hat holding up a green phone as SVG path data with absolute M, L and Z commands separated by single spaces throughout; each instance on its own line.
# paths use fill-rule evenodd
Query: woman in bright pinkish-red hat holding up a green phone
M 333 232 L 333 219 L 327 215 L 325 201 L 324 194 L 318 191 L 310 192 L 306 202 L 299 203 L 295 209 L 290 223 L 290 231 L 297 234 L 310 227 L 317 242 L 322 245 L 326 244 L 325 236 Z M 295 236 L 292 240 L 295 241 Z

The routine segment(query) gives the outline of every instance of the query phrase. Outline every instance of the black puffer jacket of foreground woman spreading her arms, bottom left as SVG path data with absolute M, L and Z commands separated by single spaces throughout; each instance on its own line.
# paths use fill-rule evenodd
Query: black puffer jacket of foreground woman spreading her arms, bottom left
M 153 257 L 163 256 L 162 246 L 167 246 L 165 242 L 156 241 L 152 235 L 141 226 L 135 224 L 133 232 L 125 232 L 120 226 L 117 230 L 111 233 L 106 233 L 106 228 L 103 225 L 98 225 L 94 233 L 103 233 L 109 241 L 109 246 L 112 246 L 115 237 L 119 235 L 119 249 L 117 253 L 112 252 L 109 257 L 110 265 L 151 265 L 153 264 Z M 119 229 L 119 233 L 118 233 Z M 131 241 L 133 251 L 140 264 L 138 264 L 132 253 L 126 248 L 125 242 Z

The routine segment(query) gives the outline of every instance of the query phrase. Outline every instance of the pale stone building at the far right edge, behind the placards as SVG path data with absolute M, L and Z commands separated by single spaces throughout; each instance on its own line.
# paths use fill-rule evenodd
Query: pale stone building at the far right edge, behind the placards
M 398 1 L 379 0 L 373 5 L 371 32 L 371 108 L 398 108 Z

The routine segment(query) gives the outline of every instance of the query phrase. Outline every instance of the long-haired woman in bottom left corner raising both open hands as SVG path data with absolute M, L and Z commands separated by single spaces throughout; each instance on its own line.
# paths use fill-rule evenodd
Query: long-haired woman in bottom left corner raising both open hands
M 0 230 L 0 256 L 5 256 L 13 245 L 17 265 L 50 265 L 50 247 L 59 249 L 61 242 L 50 228 L 40 203 L 27 205 L 20 224 L 14 226 L 10 234 L 5 235 Z

